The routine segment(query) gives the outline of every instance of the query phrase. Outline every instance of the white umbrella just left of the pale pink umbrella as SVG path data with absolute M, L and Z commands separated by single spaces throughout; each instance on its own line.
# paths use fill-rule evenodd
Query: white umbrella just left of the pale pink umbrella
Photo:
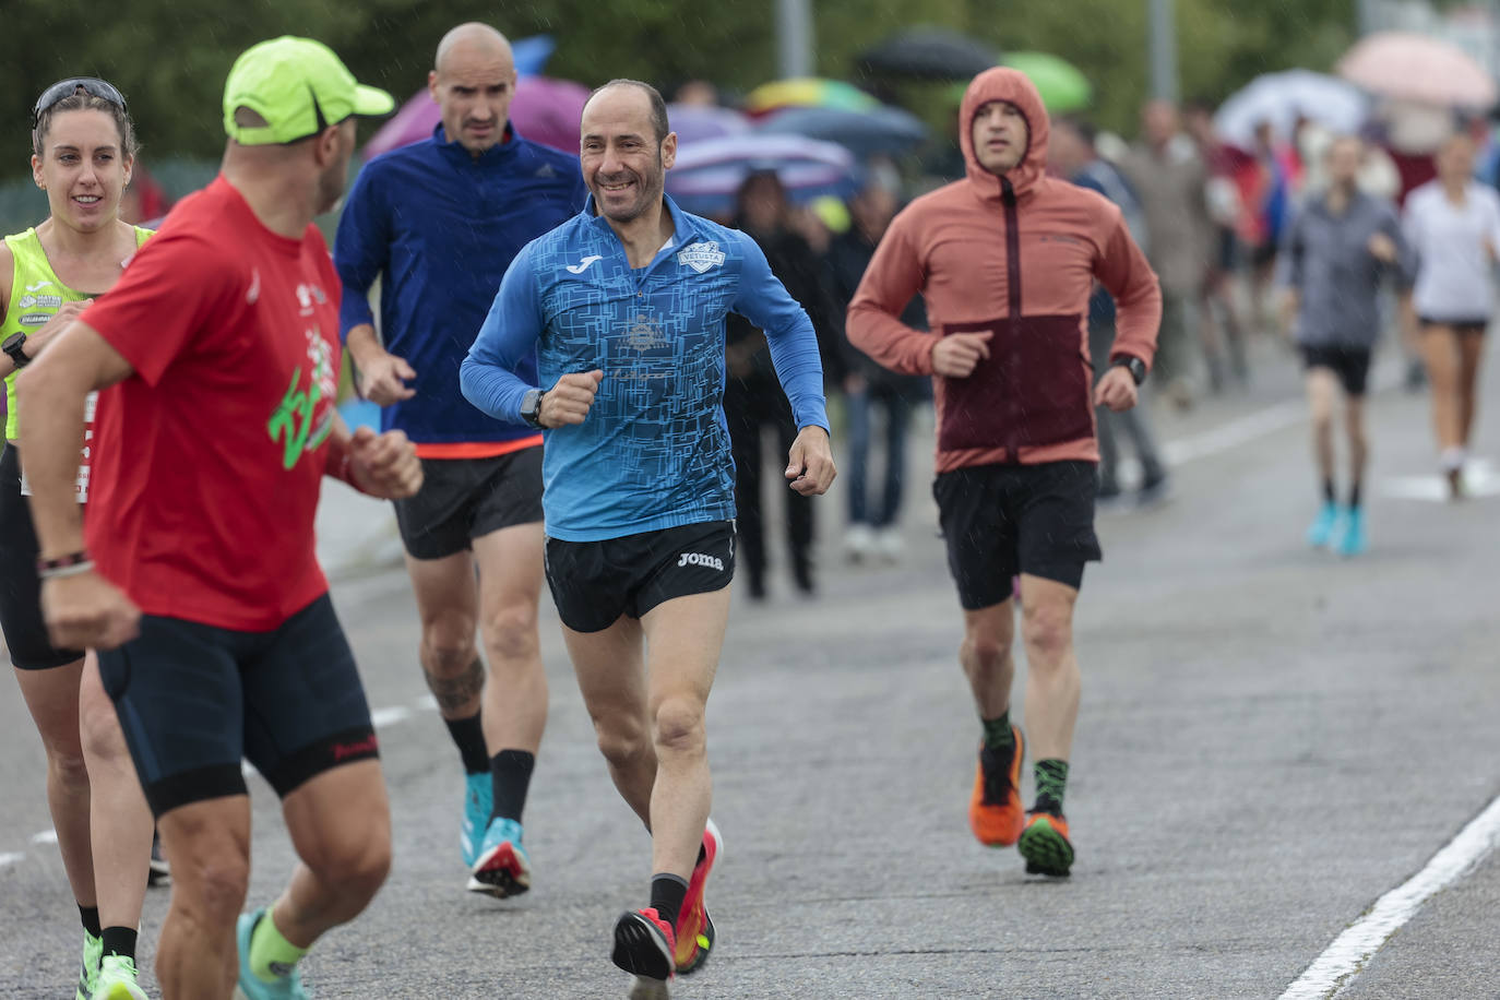
M 1214 130 L 1226 142 L 1248 150 L 1256 145 L 1256 126 L 1262 121 L 1269 121 L 1281 139 L 1292 138 L 1298 118 L 1352 135 L 1368 112 L 1370 102 L 1353 84 L 1308 69 L 1288 69 L 1256 76 L 1226 97 L 1214 114 Z

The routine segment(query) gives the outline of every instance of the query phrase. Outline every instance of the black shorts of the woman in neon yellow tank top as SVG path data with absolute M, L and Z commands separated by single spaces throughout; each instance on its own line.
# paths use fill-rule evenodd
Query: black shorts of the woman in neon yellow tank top
M 36 556 L 32 507 L 21 496 L 21 456 L 8 442 L 0 454 L 0 630 L 20 670 L 50 670 L 84 658 L 82 651 L 57 649 L 46 639 Z

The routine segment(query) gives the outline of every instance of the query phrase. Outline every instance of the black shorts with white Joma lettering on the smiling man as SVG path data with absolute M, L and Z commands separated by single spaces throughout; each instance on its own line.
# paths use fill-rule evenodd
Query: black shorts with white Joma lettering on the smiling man
M 735 522 L 710 520 L 604 541 L 548 538 L 548 586 L 562 624 L 597 633 L 621 615 L 711 594 L 735 576 Z

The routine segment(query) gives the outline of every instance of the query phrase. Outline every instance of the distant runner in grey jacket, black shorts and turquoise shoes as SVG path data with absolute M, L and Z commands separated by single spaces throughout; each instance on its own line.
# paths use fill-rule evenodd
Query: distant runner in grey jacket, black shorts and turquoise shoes
M 1312 409 L 1312 453 L 1323 505 L 1308 543 L 1353 556 L 1365 550 L 1360 486 L 1370 447 L 1364 397 L 1370 360 L 1380 333 L 1382 280 L 1400 271 L 1401 226 L 1395 208 L 1358 187 L 1364 144 L 1341 136 L 1326 151 L 1328 187 L 1308 195 L 1284 241 L 1282 318 L 1306 363 Z M 1348 502 L 1334 484 L 1334 400 L 1344 390 L 1348 436 Z

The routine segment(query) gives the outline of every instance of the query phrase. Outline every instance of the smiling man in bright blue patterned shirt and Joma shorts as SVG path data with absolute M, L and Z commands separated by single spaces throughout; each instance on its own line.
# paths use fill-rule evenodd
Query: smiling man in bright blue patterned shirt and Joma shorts
M 800 427 L 790 487 L 818 495 L 834 478 L 813 325 L 750 237 L 663 196 L 675 157 L 652 87 L 596 90 L 590 202 L 516 256 L 462 370 L 476 406 L 546 429 L 548 585 L 610 777 L 651 831 L 651 906 L 615 925 L 633 996 L 662 996 L 714 943 L 704 706 L 735 559 L 726 313 L 771 345 Z

